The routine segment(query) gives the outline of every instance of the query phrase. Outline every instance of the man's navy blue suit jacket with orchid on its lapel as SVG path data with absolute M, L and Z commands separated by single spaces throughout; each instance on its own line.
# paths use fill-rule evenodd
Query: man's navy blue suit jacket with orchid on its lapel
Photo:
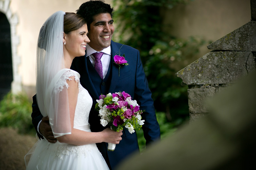
M 116 43 L 111 41 L 111 59 L 109 69 L 110 75 L 109 78 L 111 79 L 108 81 L 109 89 L 107 93 L 115 93 L 119 91 L 125 91 L 126 93 L 130 94 L 133 100 L 137 100 L 137 103 L 140 105 L 141 110 L 145 110 L 143 112 L 142 119 L 145 120 L 145 124 L 142 126 L 144 137 L 146 139 L 146 144 L 149 144 L 153 141 L 160 139 L 160 128 L 159 124 L 156 120 L 155 108 L 154 103 L 151 98 L 151 92 L 148 88 L 148 81 L 146 75 L 144 73 L 144 69 L 140 60 L 140 53 L 137 49 L 132 48 L 127 45 L 123 45 L 120 43 Z M 122 48 L 121 48 L 122 47 Z M 120 68 L 120 73 L 118 72 L 118 67 L 114 63 L 114 56 L 116 52 L 119 52 L 122 56 L 125 54 L 125 60 L 129 65 Z M 93 132 L 102 131 L 105 129 L 100 124 L 100 116 L 98 112 L 94 110 L 96 100 L 99 99 L 100 96 L 100 86 L 104 85 L 104 80 L 99 87 L 95 87 L 93 85 L 93 78 L 89 75 L 88 66 L 87 64 L 90 61 L 85 56 L 76 57 L 73 60 L 71 65 L 71 69 L 77 71 L 80 74 L 80 83 L 81 85 L 87 89 L 90 93 L 93 105 L 89 116 L 89 123 L 91 130 Z M 35 98 L 35 97 L 34 97 Z M 42 119 L 40 114 L 35 107 L 35 100 L 33 100 L 33 113 L 32 120 L 33 124 L 37 126 L 38 120 Z M 35 110 L 35 113 L 34 113 Z M 33 114 L 36 116 L 33 116 Z M 34 117 L 34 118 L 33 118 Z M 38 119 L 38 120 L 36 120 Z M 36 124 L 37 122 L 37 124 Z M 119 144 L 116 145 L 115 151 L 107 151 L 107 143 L 99 143 L 97 144 L 100 152 L 102 153 L 104 159 L 106 160 L 108 166 L 110 168 L 114 168 L 122 159 L 126 156 L 131 154 L 132 152 L 139 152 L 138 140 L 136 133 L 130 134 L 127 129 L 124 129 L 122 140 Z

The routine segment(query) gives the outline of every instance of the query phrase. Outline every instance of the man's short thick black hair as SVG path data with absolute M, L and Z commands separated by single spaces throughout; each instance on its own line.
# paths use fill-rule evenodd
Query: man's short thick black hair
M 111 18 L 113 16 L 114 8 L 111 8 L 110 4 L 104 3 L 104 1 L 88 1 L 80 5 L 76 13 L 81 15 L 87 23 L 88 31 L 90 30 L 90 25 L 94 20 L 94 16 L 101 13 L 109 13 Z

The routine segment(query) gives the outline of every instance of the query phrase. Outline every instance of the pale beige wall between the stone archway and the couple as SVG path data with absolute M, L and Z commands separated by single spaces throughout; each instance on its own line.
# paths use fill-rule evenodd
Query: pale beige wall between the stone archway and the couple
M 55 11 L 75 12 L 85 0 L 11 0 L 10 9 L 19 19 L 19 73 L 24 86 L 36 84 L 36 43 L 44 21 Z M 110 0 L 105 1 L 110 4 Z

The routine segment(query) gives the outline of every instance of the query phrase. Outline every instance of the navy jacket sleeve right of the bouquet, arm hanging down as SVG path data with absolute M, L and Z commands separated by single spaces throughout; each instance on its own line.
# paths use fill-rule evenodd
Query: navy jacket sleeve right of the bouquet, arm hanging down
M 142 120 L 145 120 L 145 124 L 142 125 L 142 129 L 146 139 L 146 145 L 148 145 L 149 143 L 160 139 L 160 127 L 156 120 L 154 101 L 151 97 L 152 93 L 148 87 L 148 80 L 141 63 L 139 51 L 137 56 L 137 70 L 134 90 L 134 98 L 138 101 L 140 110 L 145 110 L 145 112 L 142 114 Z

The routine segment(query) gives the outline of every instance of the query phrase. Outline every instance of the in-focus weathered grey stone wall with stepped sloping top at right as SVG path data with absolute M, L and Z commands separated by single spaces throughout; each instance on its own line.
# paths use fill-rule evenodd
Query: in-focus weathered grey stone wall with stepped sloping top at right
M 190 121 L 208 114 L 206 100 L 256 68 L 256 0 L 251 21 L 207 46 L 211 52 L 176 73 L 188 85 Z

